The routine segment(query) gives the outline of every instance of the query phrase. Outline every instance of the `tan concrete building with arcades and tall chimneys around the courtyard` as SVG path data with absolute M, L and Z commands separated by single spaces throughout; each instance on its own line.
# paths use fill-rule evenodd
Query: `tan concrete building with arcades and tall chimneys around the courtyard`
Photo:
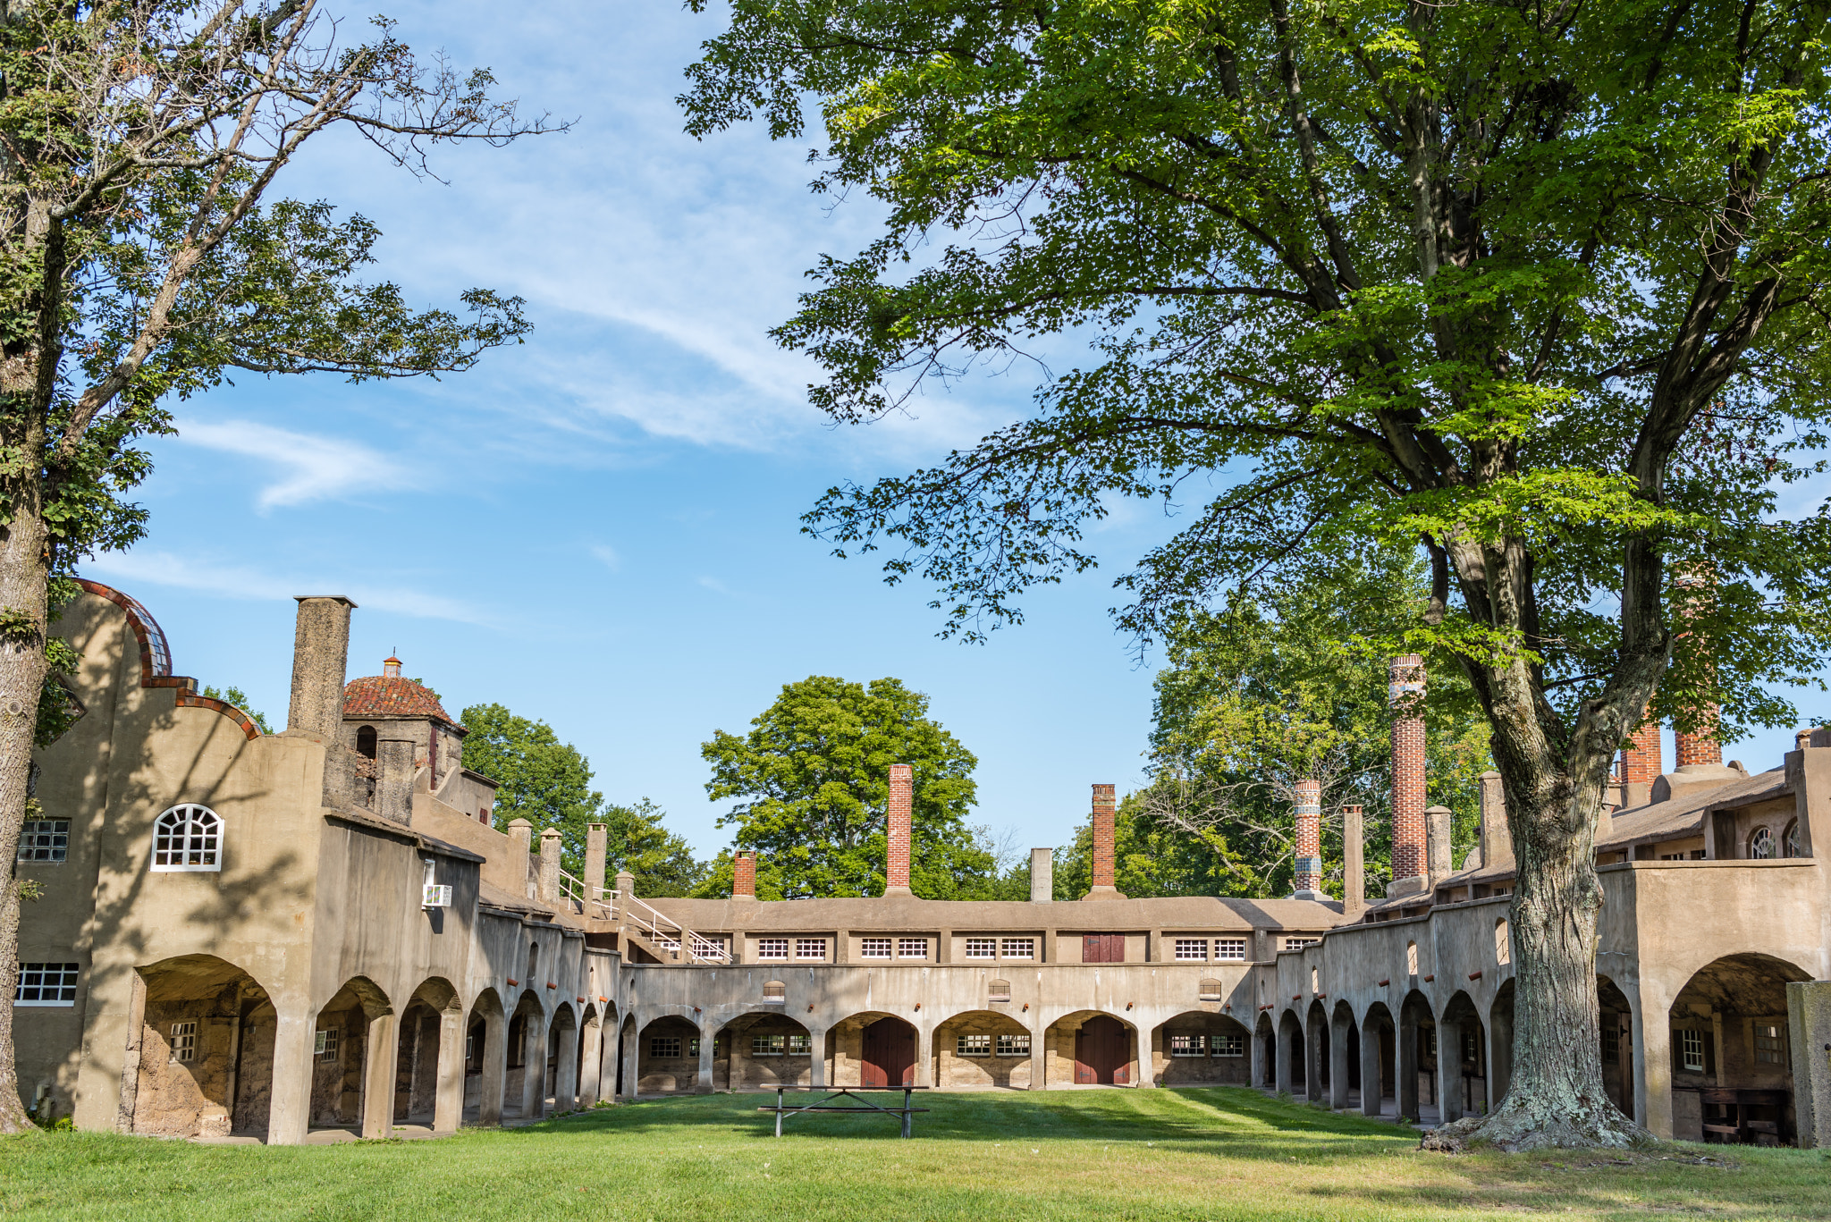
M 558 832 L 536 848 L 527 823 L 493 826 L 494 782 L 430 691 L 392 658 L 346 682 L 350 610 L 300 599 L 278 735 L 174 678 L 130 597 L 86 583 L 66 610 L 84 713 L 40 755 L 20 848 L 46 887 L 15 1019 L 29 1103 L 84 1129 L 304 1141 L 775 1083 L 1236 1083 L 1425 1121 L 1505 1094 L 1505 802 L 1485 779 L 1481 845 L 1452 867 L 1415 658 L 1392 687 L 1403 876 L 1373 903 L 1318 898 L 1313 786 L 1289 900 L 1122 896 L 1111 786 L 1082 900 L 1051 900 L 1047 850 L 1029 901 L 921 900 L 903 766 L 884 896 L 758 901 L 740 854 L 727 900 L 645 900 L 604 878 L 601 828 L 571 878 Z M 1661 773 L 1652 742 L 1598 835 L 1609 1092 L 1659 1134 L 1831 1143 L 1813 856 L 1831 735 L 1760 775 L 1703 742 Z M 1344 826 L 1357 879 L 1359 808 Z

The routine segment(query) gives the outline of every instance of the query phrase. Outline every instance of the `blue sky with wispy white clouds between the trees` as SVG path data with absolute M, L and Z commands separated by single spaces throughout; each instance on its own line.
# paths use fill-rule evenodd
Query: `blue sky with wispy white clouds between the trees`
M 1135 665 L 1106 608 L 1111 575 L 1166 533 L 1161 513 L 1117 513 L 1093 540 L 1108 568 L 1027 599 L 1029 621 L 987 647 L 936 639 L 925 588 L 890 590 L 798 533 L 833 482 L 1020 416 L 1038 370 L 870 427 L 806 405 L 813 368 L 765 332 L 818 253 L 857 249 L 877 213 L 811 196 L 806 145 L 681 134 L 681 70 L 720 18 L 670 0 L 385 7 L 406 42 L 487 64 L 505 97 L 573 130 L 439 152 L 449 185 L 328 137 L 284 189 L 377 222 L 377 275 L 410 300 L 520 293 L 536 332 L 445 381 L 249 376 L 179 405 L 141 489 L 150 537 L 84 570 L 154 612 L 176 669 L 284 724 L 291 595 L 348 594 L 352 676 L 399 650 L 454 715 L 494 700 L 546 718 L 608 797 L 655 799 L 701 852 L 727 837 L 699 744 L 807 674 L 928 693 L 980 757 L 976 821 L 1020 845 L 1064 843 L 1091 782 L 1130 788 L 1154 663 Z M 1769 766 L 1785 746 L 1732 753 Z

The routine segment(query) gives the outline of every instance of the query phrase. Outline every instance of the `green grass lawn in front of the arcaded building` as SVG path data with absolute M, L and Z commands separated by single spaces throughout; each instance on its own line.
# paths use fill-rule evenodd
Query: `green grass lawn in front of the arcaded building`
M 936 1094 L 888 1118 L 703 1096 L 439 1141 L 200 1147 L 0 1138 L 20 1218 L 1831 1218 L 1818 1151 L 1670 1145 L 1624 1156 L 1423 1154 L 1393 1125 L 1251 1090 Z M 1706 1162 L 1697 1162 L 1706 1160 Z

